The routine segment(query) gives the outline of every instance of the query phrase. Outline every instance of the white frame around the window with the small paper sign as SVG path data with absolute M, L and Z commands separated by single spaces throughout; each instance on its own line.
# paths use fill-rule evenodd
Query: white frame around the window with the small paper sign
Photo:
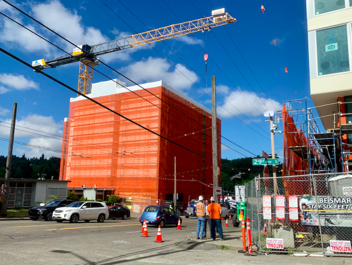
M 326 13 L 324 13 L 324 14 L 326 14 Z M 343 25 L 346 25 L 346 30 L 347 30 L 347 47 L 348 47 L 349 71 L 338 72 L 338 73 L 327 74 L 327 75 L 319 75 L 317 32 L 320 31 L 320 30 L 325 30 L 325 29 L 329 29 L 329 28 L 335 28 L 335 27 L 343 26 Z M 321 28 L 321 29 L 318 29 L 318 30 L 314 30 L 314 38 L 315 38 L 315 45 L 314 45 L 315 68 L 316 68 L 316 77 L 317 78 L 326 77 L 326 76 L 332 76 L 332 75 L 340 75 L 340 74 L 352 73 L 352 49 L 351 49 L 351 44 L 352 44 L 352 22 L 338 24 L 338 25 L 334 25 L 334 26 L 331 26 L 331 27 L 326 27 L 326 28 Z

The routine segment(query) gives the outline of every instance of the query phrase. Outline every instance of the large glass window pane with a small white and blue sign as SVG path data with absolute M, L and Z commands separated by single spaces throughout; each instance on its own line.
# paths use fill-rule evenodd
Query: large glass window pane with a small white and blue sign
M 317 31 L 318 75 L 349 71 L 347 25 Z

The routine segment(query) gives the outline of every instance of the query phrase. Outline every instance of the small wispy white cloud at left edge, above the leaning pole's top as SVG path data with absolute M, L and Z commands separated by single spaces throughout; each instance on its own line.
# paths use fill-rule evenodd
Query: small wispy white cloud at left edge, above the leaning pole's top
M 23 75 L 17 74 L 0 74 L 0 83 L 17 90 L 39 89 L 37 83 L 26 79 Z M 7 91 L 9 91 L 9 89 L 5 88 L 5 90 L 2 90 L 0 87 L 0 93 L 5 93 Z

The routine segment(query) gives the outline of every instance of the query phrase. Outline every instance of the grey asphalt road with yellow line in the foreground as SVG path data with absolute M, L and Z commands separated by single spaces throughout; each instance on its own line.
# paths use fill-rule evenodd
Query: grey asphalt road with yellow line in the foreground
M 0 221 L 0 264 L 352 264 L 350 258 L 248 257 L 221 250 L 211 243 L 187 240 L 194 237 L 197 226 L 191 218 L 183 219 L 182 230 L 162 228 L 164 242 L 155 243 L 157 228 L 149 226 L 150 237 L 141 237 L 138 217 L 77 224 Z

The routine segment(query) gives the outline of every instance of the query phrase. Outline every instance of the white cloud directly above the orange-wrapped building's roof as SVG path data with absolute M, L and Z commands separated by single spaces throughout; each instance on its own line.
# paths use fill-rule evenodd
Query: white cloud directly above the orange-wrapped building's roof
M 188 70 L 184 65 L 177 64 L 176 67 L 193 83 L 198 81 L 196 73 Z M 119 71 L 137 83 L 163 80 L 173 88 L 181 90 L 189 89 L 192 86 L 192 82 L 177 69 L 173 69 L 173 67 L 164 59 L 149 57 L 147 60 L 122 67 Z

